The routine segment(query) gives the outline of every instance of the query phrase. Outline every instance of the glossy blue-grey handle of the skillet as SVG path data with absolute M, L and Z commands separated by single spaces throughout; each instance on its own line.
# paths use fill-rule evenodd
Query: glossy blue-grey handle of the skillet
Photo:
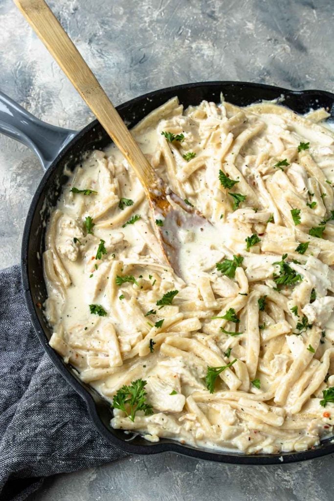
M 0 133 L 31 148 L 46 170 L 64 146 L 77 134 L 42 122 L 0 91 Z

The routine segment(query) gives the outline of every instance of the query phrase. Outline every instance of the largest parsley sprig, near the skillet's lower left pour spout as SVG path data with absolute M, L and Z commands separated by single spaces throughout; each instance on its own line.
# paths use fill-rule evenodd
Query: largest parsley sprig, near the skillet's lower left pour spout
M 145 385 L 146 381 L 137 379 L 136 381 L 132 381 L 130 386 L 122 386 L 116 395 L 114 395 L 113 407 L 125 412 L 131 421 L 135 420 L 138 410 L 143 410 L 145 416 L 152 415 L 152 405 L 146 403 L 147 393 L 144 390 Z

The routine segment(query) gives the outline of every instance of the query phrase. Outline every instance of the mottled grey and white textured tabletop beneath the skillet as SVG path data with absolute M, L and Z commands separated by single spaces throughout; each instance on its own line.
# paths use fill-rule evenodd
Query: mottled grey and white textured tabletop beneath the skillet
M 332 0 L 53 0 L 50 6 L 115 104 L 169 85 L 248 80 L 333 92 Z M 92 115 L 11 0 L 0 0 L 0 89 L 55 125 Z M 0 137 L 0 267 L 19 261 L 43 175 Z M 272 467 L 172 454 L 129 457 L 48 479 L 31 501 L 332 501 L 333 457 Z

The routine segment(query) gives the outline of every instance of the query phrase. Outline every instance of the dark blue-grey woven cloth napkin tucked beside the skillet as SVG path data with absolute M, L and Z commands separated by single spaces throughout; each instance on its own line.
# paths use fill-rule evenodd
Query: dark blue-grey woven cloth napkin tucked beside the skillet
M 21 501 L 44 477 L 127 454 L 94 428 L 82 398 L 44 353 L 19 266 L 0 272 L 0 499 Z

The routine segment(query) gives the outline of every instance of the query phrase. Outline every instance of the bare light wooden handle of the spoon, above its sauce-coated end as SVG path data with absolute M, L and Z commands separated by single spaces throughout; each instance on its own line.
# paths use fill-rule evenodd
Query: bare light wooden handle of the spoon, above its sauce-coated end
M 44 0 L 14 2 L 149 192 L 158 182 L 153 167 L 57 18 Z

